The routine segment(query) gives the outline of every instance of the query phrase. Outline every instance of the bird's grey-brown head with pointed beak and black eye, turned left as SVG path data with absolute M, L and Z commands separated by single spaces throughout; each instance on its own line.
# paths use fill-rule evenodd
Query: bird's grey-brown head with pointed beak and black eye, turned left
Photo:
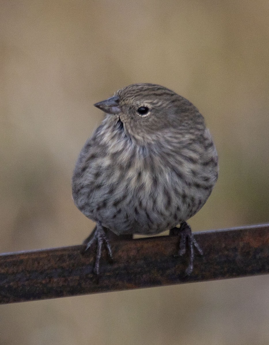
M 108 114 L 110 121 L 121 121 L 127 135 L 143 142 L 167 133 L 186 135 L 205 128 L 202 115 L 191 102 L 155 84 L 129 85 L 94 106 Z

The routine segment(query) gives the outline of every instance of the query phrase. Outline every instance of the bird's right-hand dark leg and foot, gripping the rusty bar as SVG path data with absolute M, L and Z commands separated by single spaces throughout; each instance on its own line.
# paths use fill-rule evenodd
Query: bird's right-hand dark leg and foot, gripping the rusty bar
M 180 228 L 173 228 L 170 230 L 169 235 L 178 235 L 180 236 L 179 240 L 179 249 L 178 249 L 178 255 L 182 256 L 186 254 L 187 249 L 189 249 L 189 265 L 186 269 L 186 274 L 190 275 L 193 271 L 193 260 L 194 260 L 194 248 L 197 249 L 198 253 L 200 255 L 203 255 L 203 251 L 201 247 L 196 242 L 196 239 L 194 238 L 192 234 L 191 227 L 184 221 Z

